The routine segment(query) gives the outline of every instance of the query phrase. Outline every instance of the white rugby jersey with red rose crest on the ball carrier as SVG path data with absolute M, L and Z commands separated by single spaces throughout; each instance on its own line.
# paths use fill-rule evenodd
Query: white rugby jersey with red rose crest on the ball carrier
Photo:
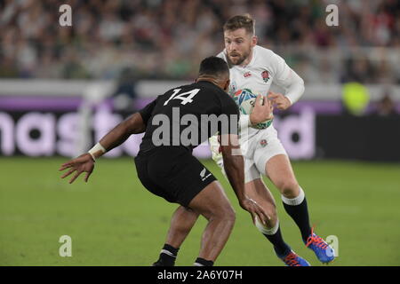
M 228 62 L 226 50 L 217 56 Z M 304 82 L 300 76 L 286 64 L 282 57 L 260 45 L 256 45 L 252 49 L 252 60 L 247 66 L 234 65 L 230 67 L 229 71 L 228 93 L 231 96 L 241 89 L 250 89 L 254 94 L 267 96 L 272 83 L 274 83 L 284 88 L 286 91 L 284 95 L 294 104 L 304 92 Z M 246 119 L 248 122 L 248 117 Z M 242 128 L 241 140 L 252 138 L 259 131 L 248 128 L 247 132 Z

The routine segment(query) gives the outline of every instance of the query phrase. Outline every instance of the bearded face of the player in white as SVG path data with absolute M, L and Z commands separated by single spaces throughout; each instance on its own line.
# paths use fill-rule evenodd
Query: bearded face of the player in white
M 252 35 L 248 35 L 244 28 L 234 31 L 225 31 L 225 49 L 231 65 L 240 65 L 252 51 Z

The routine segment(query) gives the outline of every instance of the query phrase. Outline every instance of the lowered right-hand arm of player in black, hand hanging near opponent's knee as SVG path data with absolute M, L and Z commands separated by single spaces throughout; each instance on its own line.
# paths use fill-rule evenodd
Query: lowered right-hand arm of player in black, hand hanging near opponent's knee
M 252 215 L 253 222 L 257 216 L 263 224 L 266 224 L 269 217 L 265 210 L 244 193 L 244 159 L 237 135 L 221 135 L 221 153 L 229 183 L 236 193 L 240 206 Z

